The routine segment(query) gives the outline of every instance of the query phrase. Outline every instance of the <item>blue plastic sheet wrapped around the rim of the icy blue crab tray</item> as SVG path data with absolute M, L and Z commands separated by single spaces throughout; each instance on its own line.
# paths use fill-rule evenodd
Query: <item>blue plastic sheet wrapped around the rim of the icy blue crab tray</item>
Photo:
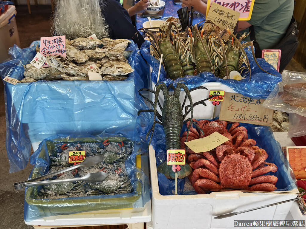
M 58 144 L 62 143 L 88 143 L 95 142 L 103 144 L 109 142 L 128 141 L 122 135 L 102 134 L 100 136 L 67 136 L 58 135 L 43 140 L 38 150 L 31 155 L 31 163 L 34 164 L 29 178 L 35 178 L 46 174 L 49 169 L 49 155 L 54 154 Z M 27 187 L 24 201 L 24 220 L 32 221 L 45 216 L 67 215 L 88 211 L 139 208 L 143 207 L 151 199 L 151 186 L 144 171 L 136 166 L 136 155 L 142 153 L 142 144 L 134 142 L 132 154 L 125 160 L 125 168 L 131 179 L 132 193 L 115 195 L 93 195 L 86 197 L 70 197 L 60 199 L 36 199 L 41 186 Z

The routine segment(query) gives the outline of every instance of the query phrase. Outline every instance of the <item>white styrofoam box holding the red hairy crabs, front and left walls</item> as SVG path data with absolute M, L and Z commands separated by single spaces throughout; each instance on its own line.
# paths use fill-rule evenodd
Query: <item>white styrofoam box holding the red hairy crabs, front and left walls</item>
M 234 227 L 234 220 L 284 220 L 293 202 L 274 205 L 221 220 L 216 220 L 214 217 L 296 197 L 293 194 L 244 193 L 241 191 L 196 195 L 161 195 L 159 194 L 155 151 L 151 145 L 149 154 L 152 186 L 151 225 L 154 229 L 237 228 Z M 297 193 L 298 191 L 293 189 L 287 192 Z

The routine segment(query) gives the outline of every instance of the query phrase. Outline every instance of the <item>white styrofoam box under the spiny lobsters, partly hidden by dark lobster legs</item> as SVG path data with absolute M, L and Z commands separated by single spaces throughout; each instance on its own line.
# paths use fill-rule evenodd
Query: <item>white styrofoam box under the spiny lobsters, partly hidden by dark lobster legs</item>
M 194 90 L 192 92 L 190 92 L 190 95 L 192 97 L 192 103 L 198 102 L 200 100 L 206 99 L 209 97 L 209 91 L 210 90 L 222 90 L 225 92 L 232 92 L 235 93 L 235 91 L 230 88 L 229 86 L 219 83 L 219 82 L 207 82 L 202 84 L 201 86 L 206 87 L 208 90 L 206 89 L 197 89 Z M 155 83 L 151 82 L 151 90 L 154 90 L 155 88 Z M 153 93 L 149 93 L 149 99 L 151 101 L 153 101 L 154 103 L 154 94 Z M 180 101 L 181 104 L 183 104 L 185 99 L 185 92 L 182 91 L 180 94 Z M 164 103 L 164 95 L 162 92 L 159 93 L 159 101 L 160 104 L 163 106 Z M 189 100 L 187 98 L 185 106 L 189 105 Z M 215 111 L 215 117 L 219 116 L 220 113 L 220 108 L 221 105 L 218 106 L 214 106 L 212 105 L 212 101 L 205 101 L 205 104 L 207 106 L 204 106 L 202 104 L 197 105 L 193 108 L 193 118 L 195 119 L 209 119 L 209 118 L 213 118 L 213 113 L 214 113 L 214 109 L 216 109 Z M 159 106 L 157 106 L 157 111 L 159 112 L 159 114 L 162 114 L 162 112 L 159 109 Z M 183 114 L 185 114 L 185 108 L 183 108 Z M 186 116 L 185 119 L 190 118 L 190 113 Z

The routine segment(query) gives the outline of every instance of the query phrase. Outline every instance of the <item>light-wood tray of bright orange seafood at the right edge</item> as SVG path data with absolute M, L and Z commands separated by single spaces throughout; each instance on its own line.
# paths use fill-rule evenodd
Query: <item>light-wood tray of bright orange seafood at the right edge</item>
M 297 179 L 306 179 L 306 146 L 287 146 L 287 160 Z

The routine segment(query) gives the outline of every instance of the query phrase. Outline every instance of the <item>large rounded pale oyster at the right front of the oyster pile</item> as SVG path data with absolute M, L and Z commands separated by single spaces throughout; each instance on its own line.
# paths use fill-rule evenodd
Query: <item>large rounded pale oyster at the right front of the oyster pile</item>
M 132 67 L 124 61 L 108 62 L 101 67 L 101 72 L 105 75 L 127 75 L 133 71 Z

